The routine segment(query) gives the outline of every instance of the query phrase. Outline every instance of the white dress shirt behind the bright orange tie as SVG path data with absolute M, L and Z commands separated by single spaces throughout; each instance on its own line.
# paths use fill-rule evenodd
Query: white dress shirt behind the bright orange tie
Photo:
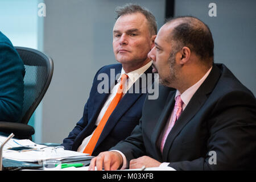
M 146 65 L 144 65 L 143 67 L 141 67 L 139 69 L 136 69 L 132 72 L 126 73 L 128 75 L 128 79 L 126 80 L 125 86 L 123 88 L 123 95 L 131 88 L 131 86 L 134 84 L 134 82 L 137 81 L 138 78 L 151 66 L 151 64 L 152 64 L 152 61 L 150 61 L 149 63 L 147 63 Z M 125 71 L 122 68 L 121 75 L 123 75 L 123 73 L 125 73 Z M 100 123 L 100 121 L 101 121 L 102 117 L 104 116 L 106 110 L 108 109 L 110 103 L 112 102 L 113 98 L 115 97 L 115 94 L 117 93 L 117 89 L 121 82 L 121 75 L 119 76 L 119 78 L 117 80 L 117 84 L 110 91 L 109 97 L 106 100 L 104 106 L 102 107 L 100 114 L 98 115 L 98 118 L 95 123 L 96 126 L 98 126 L 98 124 Z M 93 131 L 93 133 L 94 133 L 94 131 Z M 77 152 L 84 151 L 85 147 L 89 143 L 90 138 L 92 138 L 93 133 L 91 135 L 89 135 L 88 137 L 86 137 L 84 140 L 82 140 L 81 145 L 79 146 L 79 148 L 77 148 Z

